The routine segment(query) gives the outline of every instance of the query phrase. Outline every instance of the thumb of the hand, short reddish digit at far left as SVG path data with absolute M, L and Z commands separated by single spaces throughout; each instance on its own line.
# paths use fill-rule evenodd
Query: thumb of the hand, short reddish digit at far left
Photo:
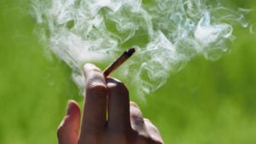
M 68 101 L 67 114 L 57 131 L 59 144 L 77 144 L 80 117 L 79 105 L 75 101 Z

